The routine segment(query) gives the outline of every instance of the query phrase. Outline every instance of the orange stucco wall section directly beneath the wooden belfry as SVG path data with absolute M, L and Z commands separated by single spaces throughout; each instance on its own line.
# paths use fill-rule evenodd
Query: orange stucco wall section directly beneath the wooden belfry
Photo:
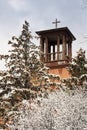
M 70 74 L 68 72 L 68 70 L 66 68 L 51 68 L 49 70 L 49 72 L 51 74 L 57 74 L 59 75 L 61 78 L 69 78 L 70 77 Z

